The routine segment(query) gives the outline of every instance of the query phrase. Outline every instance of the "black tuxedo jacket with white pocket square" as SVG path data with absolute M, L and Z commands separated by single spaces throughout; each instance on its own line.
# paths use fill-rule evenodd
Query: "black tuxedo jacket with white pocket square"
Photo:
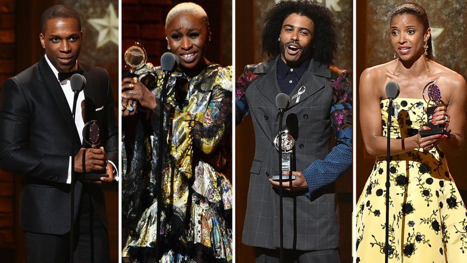
M 97 119 L 101 145 L 117 164 L 118 127 L 109 75 L 102 68 L 84 70 L 85 123 Z M 5 81 L 0 94 L 0 168 L 24 174 L 20 194 L 24 230 L 69 232 L 70 185 L 66 179 L 72 136 L 73 157 L 82 145 L 77 132 L 65 95 L 45 57 Z M 75 217 L 83 188 L 107 227 L 104 195 L 95 184 L 76 183 Z

